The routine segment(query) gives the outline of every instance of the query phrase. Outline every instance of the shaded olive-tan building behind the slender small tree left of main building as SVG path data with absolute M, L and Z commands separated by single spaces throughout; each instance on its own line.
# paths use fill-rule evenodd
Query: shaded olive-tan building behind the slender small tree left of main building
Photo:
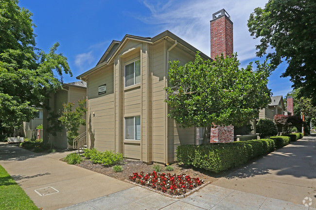
M 86 98 L 87 83 L 84 81 L 64 83 L 62 84 L 62 89 L 57 90 L 54 94 L 51 94 L 47 102 L 48 106 L 50 107 L 50 110 L 44 109 L 43 111 L 43 139 L 52 142 L 54 147 L 71 148 L 72 145 L 68 144 L 67 132 L 65 128 L 63 128 L 61 132 L 57 133 L 56 136 L 48 134 L 47 128 L 49 126 L 49 122 L 47 118 L 49 117 L 50 112 L 61 114 L 63 111 L 64 103 L 72 102 L 78 104 L 78 100 Z M 86 115 L 84 116 L 84 118 L 86 118 Z M 86 126 L 80 126 L 79 134 L 85 132 L 86 129 Z

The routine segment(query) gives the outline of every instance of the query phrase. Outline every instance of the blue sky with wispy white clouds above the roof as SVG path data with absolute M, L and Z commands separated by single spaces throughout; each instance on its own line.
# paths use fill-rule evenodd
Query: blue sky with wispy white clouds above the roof
M 210 56 L 211 15 L 225 9 L 234 23 L 234 51 L 241 66 L 258 60 L 254 40 L 246 26 L 250 13 L 267 0 L 20 0 L 33 13 L 37 47 L 48 52 L 59 42 L 58 53 L 68 58 L 73 77 L 94 67 L 111 41 L 125 34 L 153 37 L 169 30 Z M 262 60 L 262 59 L 260 59 Z M 280 78 L 286 64 L 270 76 L 274 96 L 292 90 L 289 78 Z

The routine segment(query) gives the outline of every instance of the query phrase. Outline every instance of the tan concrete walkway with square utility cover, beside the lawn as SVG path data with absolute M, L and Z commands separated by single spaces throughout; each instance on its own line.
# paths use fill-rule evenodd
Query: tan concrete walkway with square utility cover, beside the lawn
M 35 205 L 43 210 L 56 210 L 134 187 L 115 178 L 59 161 L 69 153 L 40 154 L 0 143 L 0 165 Z M 48 195 L 40 196 L 35 192 L 37 189 Z M 49 191 L 56 192 L 53 189 L 59 192 L 49 194 Z

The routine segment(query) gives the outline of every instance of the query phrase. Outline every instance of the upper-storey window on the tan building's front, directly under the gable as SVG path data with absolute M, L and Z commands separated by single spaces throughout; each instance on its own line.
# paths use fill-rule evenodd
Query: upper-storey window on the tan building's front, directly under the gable
M 140 60 L 125 65 L 125 87 L 140 83 Z

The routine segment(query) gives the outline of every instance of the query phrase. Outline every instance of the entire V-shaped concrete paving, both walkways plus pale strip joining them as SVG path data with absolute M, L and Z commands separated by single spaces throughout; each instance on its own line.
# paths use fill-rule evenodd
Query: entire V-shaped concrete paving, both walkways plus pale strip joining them
M 183 199 L 58 161 L 67 154 L 41 155 L 0 144 L 0 164 L 43 210 L 316 210 L 315 137 L 304 137 Z M 35 193 L 45 187 L 59 192 Z M 302 205 L 305 195 L 310 207 Z

